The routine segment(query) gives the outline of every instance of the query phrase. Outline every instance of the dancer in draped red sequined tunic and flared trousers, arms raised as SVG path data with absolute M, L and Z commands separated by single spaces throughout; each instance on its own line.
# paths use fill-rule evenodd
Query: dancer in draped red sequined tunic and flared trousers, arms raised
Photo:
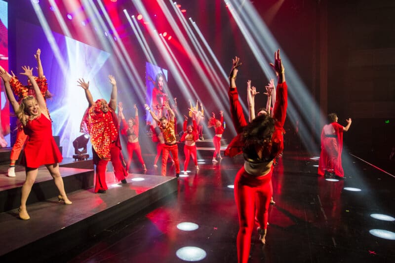
M 81 132 L 89 133 L 92 143 L 93 163 L 96 165 L 95 193 L 105 193 L 108 189 L 106 183 L 106 166 L 111 160 L 114 174 L 118 181 L 126 184 L 126 169 L 122 166 L 119 140 L 119 125 L 115 110 L 117 108 L 117 81 L 112 75 L 108 76 L 113 86 L 110 103 L 104 99 L 93 102 L 89 91 L 89 81 L 79 79 L 79 86 L 85 91 L 89 108 L 86 110 L 81 123 Z

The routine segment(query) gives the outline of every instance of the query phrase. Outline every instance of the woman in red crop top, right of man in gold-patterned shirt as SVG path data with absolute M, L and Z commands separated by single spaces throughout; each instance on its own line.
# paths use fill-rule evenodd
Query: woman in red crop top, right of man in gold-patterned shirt
M 196 142 L 198 139 L 197 134 L 197 123 L 195 120 L 195 114 L 193 115 L 193 125 L 189 125 L 187 127 L 188 117 L 185 116 L 184 120 L 184 134 L 182 135 L 180 141 L 185 142 L 184 145 L 184 154 L 185 154 L 185 161 L 184 161 L 184 174 L 187 174 L 187 167 L 189 164 L 190 156 L 192 156 L 192 160 L 194 161 L 196 170 L 199 170 L 199 166 L 197 166 L 197 150 L 196 150 Z

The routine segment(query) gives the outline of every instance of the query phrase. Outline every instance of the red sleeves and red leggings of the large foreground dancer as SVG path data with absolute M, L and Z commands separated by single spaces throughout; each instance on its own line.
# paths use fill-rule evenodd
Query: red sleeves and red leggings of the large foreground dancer
M 273 118 L 275 119 L 275 131 L 272 136 L 271 157 L 276 157 L 283 150 L 283 125 L 287 109 L 287 85 L 286 82 L 278 83 L 276 88 L 276 105 Z M 243 110 L 238 101 L 237 89 L 231 89 L 228 93 L 231 104 L 231 115 L 234 122 L 237 137 L 229 144 L 225 155 L 231 157 L 241 153 L 243 147 L 240 141 L 243 127 L 247 125 Z M 255 218 L 262 229 L 267 228 L 268 208 L 273 194 L 271 183 L 273 165 L 270 162 L 264 164 L 271 165 L 270 171 L 266 175 L 252 175 L 245 171 L 248 162 L 237 172 L 235 179 L 235 199 L 239 216 L 239 231 L 237 234 L 237 259 L 238 262 L 248 262 L 251 247 L 251 234 L 254 228 Z M 259 165 L 259 163 L 258 163 Z M 256 214 L 255 214 L 256 213 Z

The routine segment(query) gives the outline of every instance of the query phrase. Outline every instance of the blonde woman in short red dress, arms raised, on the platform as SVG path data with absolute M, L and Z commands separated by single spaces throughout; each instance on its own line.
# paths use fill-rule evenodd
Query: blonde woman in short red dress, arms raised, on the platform
M 33 68 L 22 67 L 22 69 L 25 72 L 21 74 L 28 76 L 36 92 L 36 98 L 28 96 L 21 101 L 21 104 L 15 100 L 11 91 L 9 83 L 11 80 L 10 75 L 5 71 L 1 71 L 0 76 L 4 80 L 7 98 L 22 123 L 26 135 L 29 136 L 24 149 L 24 159 L 22 160 L 26 168 L 26 180 L 22 186 L 21 205 L 19 207 L 19 218 L 28 220 L 30 216 L 26 210 L 26 201 L 36 180 L 39 166 L 41 165 L 45 165 L 53 177 L 60 193 L 58 196 L 59 201 L 63 200 L 65 204 L 71 204 L 72 202 L 67 198 L 63 179 L 60 175 L 59 162 L 62 161 L 62 154 L 52 136 L 52 124 L 49 119 L 44 97 L 33 77 Z

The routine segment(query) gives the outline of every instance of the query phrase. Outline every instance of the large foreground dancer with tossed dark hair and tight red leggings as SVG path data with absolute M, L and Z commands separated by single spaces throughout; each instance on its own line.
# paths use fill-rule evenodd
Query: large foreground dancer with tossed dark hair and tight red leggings
M 275 63 L 271 64 L 278 74 L 273 118 L 269 114 L 261 114 L 247 124 L 238 101 L 235 82 L 240 65 L 239 58 L 235 57 L 229 76 L 231 114 L 238 135 L 229 144 L 225 155 L 235 156 L 240 152 L 244 155 L 244 166 L 237 172 L 235 179 L 235 199 L 239 217 L 237 260 L 239 263 L 247 263 L 255 219 L 259 239 L 264 244 L 266 242 L 268 208 L 273 193 L 273 159 L 283 150 L 287 85 L 278 50 L 275 53 Z

